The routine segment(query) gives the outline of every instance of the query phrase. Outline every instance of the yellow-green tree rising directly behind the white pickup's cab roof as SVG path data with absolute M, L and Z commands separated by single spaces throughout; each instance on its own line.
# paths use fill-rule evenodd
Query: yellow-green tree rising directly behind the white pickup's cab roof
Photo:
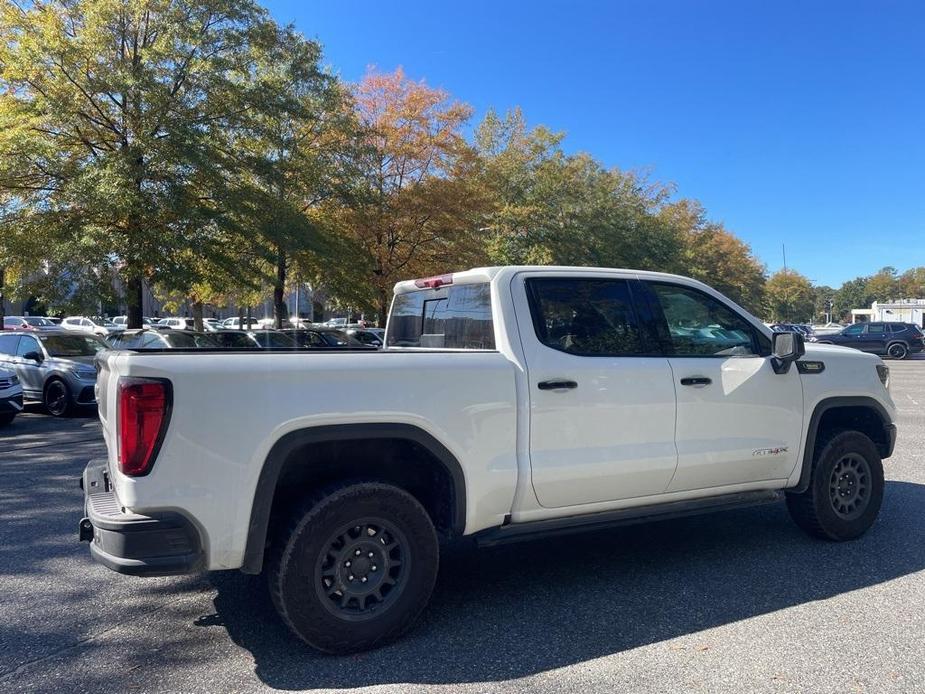
M 562 137 L 528 129 L 519 110 L 489 112 L 477 128 L 491 262 L 676 267 L 680 235 L 657 214 L 670 188 L 567 155 Z

